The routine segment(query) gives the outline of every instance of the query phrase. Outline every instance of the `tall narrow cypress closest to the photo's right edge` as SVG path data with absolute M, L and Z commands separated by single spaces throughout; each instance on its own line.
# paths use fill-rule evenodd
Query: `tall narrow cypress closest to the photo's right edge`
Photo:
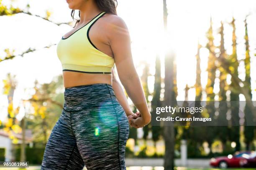
M 247 19 L 247 16 L 246 16 Z M 250 56 L 250 49 L 249 49 L 249 39 L 248 39 L 248 30 L 247 30 L 247 21 L 244 20 L 245 23 L 245 46 L 246 46 L 246 58 L 244 60 L 245 70 L 246 70 L 246 76 L 245 76 L 245 83 L 246 87 L 248 89 L 248 94 L 250 95 L 250 98 L 252 99 L 251 94 L 251 56 Z M 251 108 L 248 106 L 248 103 L 246 101 L 246 106 L 244 109 L 245 113 L 245 126 L 244 126 L 244 135 L 245 135 L 245 143 L 246 143 L 246 150 L 251 150 L 251 144 L 254 139 L 254 126 L 253 125 L 253 114 L 252 114 Z M 248 124 L 248 125 L 247 125 Z

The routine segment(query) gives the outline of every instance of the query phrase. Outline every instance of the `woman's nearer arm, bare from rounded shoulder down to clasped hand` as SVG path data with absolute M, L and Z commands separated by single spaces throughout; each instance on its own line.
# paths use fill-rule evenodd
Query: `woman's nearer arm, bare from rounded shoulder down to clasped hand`
M 130 123 L 136 128 L 141 128 L 151 121 L 151 114 L 148 110 L 141 81 L 133 64 L 128 28 L 121 18 L 114 16 L 109 21 L 107 32 L 120 81 L 141 114 L 141 117 L 130 119 L 129 122 L 131 121 Z

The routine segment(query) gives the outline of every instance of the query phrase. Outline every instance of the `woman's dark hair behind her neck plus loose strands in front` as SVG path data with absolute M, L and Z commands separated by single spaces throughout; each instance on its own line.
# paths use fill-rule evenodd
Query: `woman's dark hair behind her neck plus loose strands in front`
M 117 12 L 116 12 L 116 7 L 118 5 L 117 0 L 95 0 L 95 1 L 96 1 L 97 6 L 100 8 L 100 10 L 102 10 L 106 13 L 117 15 Z M 77 19 L 74 18 L 74 12 L 75 12 L 75 10 L 71 11 L 71 17 L 72 17 L 73 20 L 77 20 Z M 79 22 L 80 22 L 80 10 L 79 10 L 79 20 L 77 20 L 74 27 Z

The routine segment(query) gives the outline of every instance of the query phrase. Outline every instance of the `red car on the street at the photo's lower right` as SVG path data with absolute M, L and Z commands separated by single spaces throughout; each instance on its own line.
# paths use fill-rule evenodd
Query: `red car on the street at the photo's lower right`
M 210 165 L 213 167 L 219 168 L 228 168 L 228 167 L 241 167 L 240 161 L 251 154 L 251 151 L 244 151 L 244 152 L 236 152 L 233 155 L 228 155 L 225 157 L 217 157 L 212 158 L 210 160 Z

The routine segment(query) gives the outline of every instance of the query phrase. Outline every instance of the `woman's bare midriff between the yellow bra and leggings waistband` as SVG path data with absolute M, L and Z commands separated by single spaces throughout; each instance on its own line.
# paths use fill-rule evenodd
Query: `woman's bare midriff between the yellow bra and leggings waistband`
M 106 83 L 112 85 L 112 74 L 86 74 L 63 71 L 64 87 Z

